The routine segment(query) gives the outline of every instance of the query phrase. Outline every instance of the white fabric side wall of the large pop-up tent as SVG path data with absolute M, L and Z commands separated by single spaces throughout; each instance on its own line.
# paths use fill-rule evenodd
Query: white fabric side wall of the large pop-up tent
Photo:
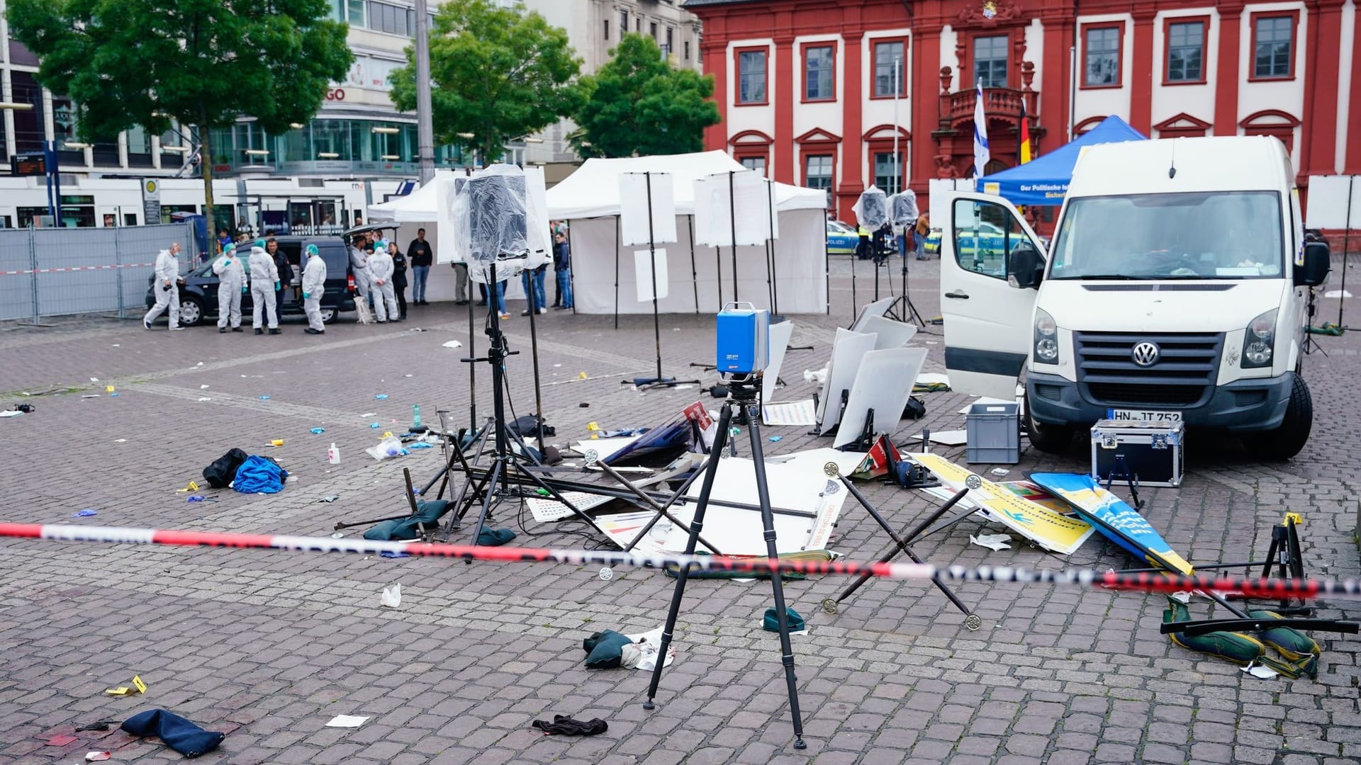
M 731 248 L 694 248 L 690 260 L 690 222 L 676 216 L 678 242 L 657 245 L 667 250 L 670 294 L 657 301 L 660 313 L 716 313 L 732 299 Z M 827 294 L 825 271 L 826 215 L 822 210 L 780 212 L 780 238 L 774 241 L 774 276 L 780 284 L 781 313 L 822 313 Z M 615 256 L 618 256 L 618 312 L 652 313 L 652 301 L 638 301 L 634 250 L 646 245 L 615 246 L 615 218 L 569 221 L 572 230 L 572 293 L 577 313 L 615 312 Z M 720 294 L 721 284 L 721 294 Z M 695 293 L 698 291 L 698 306 Z M 766 249 L 738 248 L 738 299 L 773 309 L 766 284 Z

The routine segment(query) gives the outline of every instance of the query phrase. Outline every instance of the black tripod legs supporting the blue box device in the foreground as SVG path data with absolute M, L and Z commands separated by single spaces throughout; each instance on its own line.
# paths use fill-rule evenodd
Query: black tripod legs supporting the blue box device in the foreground
M 774 546 L 774 513 L 770 510 L 770 489 L 766 483 L 765 459 L 761 455 L 761 411 L 757 399 L 761 393 L 761 376 L 747 374 L 746 377 L 728 381 L 728 399 L 723 402 L 719 412 L 719 432 L 713 440 L 713 449 L 709 464 L 705 466 L 704 482 L 700 485 L 700 500 L 694 508 L 694 520 L 690 521 L 690 535 L 686 539 L 685 554 L 693 555 L 704 531 L 704 515 L 709 509 L 709 494 L 713 490 L 713 479 L 719 474 L 719 460 L 729 449 L 728 438 L 734 421 L 747 426 L 747 436 L 751 442 L 751 463 L 755 470 L 757 498 L 761 506 L 761 523 L 765 530 L 766 555 L 772 559 L 778 557 Z M 644 709 L 655 709 L 653 698 L 657 696 L 657 686 L 661 683 L 661 670 L 666 666 L 663 657 L 671 645 L 671 636 L 676 628 L 676 618 L 680 614 L 680 600 L 685 598 L 685 585 L 690 574 L 689 566 L 676 570 L 676 588 L 671 596 L 671 608 L 667 611 L 667 623 L 661 630 L 661 645 L 657 653 L 657 666 L 652 670 L 652 682 L 648 685 L 648 700 L 642 702 Z M 789 618 L 784 606 L 784 583 L 780 574 L 770 576 L 770 589 L 774 595 L 776 622 L 780 628 L 780 660 L 784 664 L 784 681 L 789 691 L 789 716 L 793 720 L 793 747 L 807 749 L 803 742 L 803 717 L 799 713 L 799 687 L 793 674 L 793 648 L 789 644 Z

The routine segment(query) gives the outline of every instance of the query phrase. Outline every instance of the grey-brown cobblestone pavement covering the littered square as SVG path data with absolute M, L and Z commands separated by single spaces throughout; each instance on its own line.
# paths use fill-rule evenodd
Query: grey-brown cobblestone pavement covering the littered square
M 913 264 L 912 295 L 935 316 L 936 264 Z M 834 265 L 830 316 L 795 317 L 781 397 L 811 392 L 803 369 L 825 363 L 838 323 L 852 316 L 849 263 Z M 882 290 L 887 294 L 887 282 Z M 857 264 L 856 298 L 872 295 Z M 1353 312 L 1357 308 L 1353 308 Z M 516 412 L 532 410 L 528 320 L 509 321 Z M 1331 320 L 1337 302 L 1323 302 Z M 468 373 L 449 350 L 467 343 L 467 314 L 412 309 L 406 324 L 342 323 L 325 338 L 291 320 L 282 336 L 192 329 L 146 332 L 136 321 L 82 317 L 53 327 L 0 327 L 0 406 L 37 411 L 0 421 L 0 520 L 325 535 L 338 520 L 399 515 L 401 468 L 418 483 L 438 451 L 374 463 L 362 449 L 397 429 L 419 403 L 427 421 L 445 408 L 468 419 Z M 163 328 L 163 324 L 161 325 Z M 415 328 L 423 329 L 415 332 Z M 666 366 L 685 376 L 710 358 L 712 317 L 664 316 Z M 939 328 L 934 328 L 939 331 Z M 919 335 L 928 369 L 942 369 L 939 335 Z M 1234 441 L 1194 433 L 1180 490 L 1151 489 L 1146 515 L 1195 561 L 1263 555 L 1285 510 L 1305 517 L 1311 573 L 1361 574 L 1356 546 L 1361 415 L 1356 380 L 1361 340 L 1320 339 L 1307 359 L 1313 438 L 1289 464 L 1262 464 Z M 621 380 L 652 368 L 648 317 L 540 319 L 543 402 L 555 441 L 603 427 L 655 423 L 700 399 L 697 388 L 640 393 Z M 482 347 L 479 338 L 479 347 Z M 589 380 L 578 380 L 585 372 Z M 93 381 L 91 378 L 98 378 Z M 117 397 L 105 392 L 116 387 Z M 22 397 L 18 391 L 60 395 Z M 387 393 L 388 399 L 374 396 Z M 95 396 L 95 397 L 84 397 Z M 261 399 L 269 396 L 268 399 Z M 203 400 L 208 399 L 208 400 Z M 713 399 L 704 399 L 717 408 Z M 490 408 L 478 369 L 478 415 Z M 932 429 L 962 427 L 966 396 L 927 395 Z M 580 404 L 589 404 L 583 408 Z M 380 430 L 370 423 L 380 423 Z M 321 436 L 309 433 L 325 427 Z M 900 441 L 920 426 L 904 423 Z M 825 445 L 802 429 L 769 453 Z M 271 438 L 284 446 L 264 451 Z M 336 442 L 343 460 L 327 463 Z M 275 495 L 176 493 L 231 446 L 278 457 L 297 481 Z M 955 455 L 962 457 L 962 455 Z M 1062 457 L 1028 451 L 1010 471 L 1082 470 L 1079 446 Z M 897 527 L 935 506 L 916 491 L 862 485 Z M 338 494 L 333 504 L 318 498 Z M 512 509 L 498 525 L 523 531 Z M 527 523 L 513 544 L 578 546 L 562 527 Z M 1063 561 L 1017 544 L 968 543 L 984 530 L 965 521 L 917 551 L 949 564 L 1062 568 L 1128 566 L 1100 538 Z M 355 530 L 351 534 L 358 534 Z M 987 531 L 999 531 L 987 528 Z M 456 538 L 456 540 L 461 540 Z M 856 559 L 881 555 L 885 535 L 847 505 L 832 547 Z M 403 585 L 400 608 L 378 592 Z M 660 625 L 672 580 L 566 565 L 497 565 L 282 551 L 0 542 L 0 762 L 75 762 L 112 749 L 118 762 L 178 761 L 122 732 L 57 734 L 165 708 L 227 734 L 208 762 L 1354 762 L 1361 758 L 1357 637 L 1317 636 L 1322 671 L 1311 679 L 1256 679 L 1224 662 L 1173 647 L 1158 634 L 1161 596 L 968 584 L 962 615 L 930 585 L 872 581 L 834 615 L 818 604 L 847 581 L 787 585 L 810 622 L 795 637 L 808 749 L 792 749 L 789 711 L 773 634 L 759 629 L 766 583 L 694 581 L 678 632 L 678 660 L 657 709 L 645 712 L 648 677 L 591 671 L 581 638 L 603 628 Z M 1194 604 L 1196 615 L 1209 606 Z M 1327 615 L 1361 617 L 1334 603 Z M 102 691 L 147 682 L 144 697 Z M 333 715 L 365 715 L 358 730 L 324 727 Z M 534 719 L 603 717 L 604 735 L 546 738 Z

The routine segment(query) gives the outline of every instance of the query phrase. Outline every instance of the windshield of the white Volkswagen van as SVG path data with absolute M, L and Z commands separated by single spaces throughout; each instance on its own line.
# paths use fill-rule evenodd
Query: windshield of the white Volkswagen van
M 1149 193 L 1068 201 L 1051 279 L 1279 279 L 1275 192 Z

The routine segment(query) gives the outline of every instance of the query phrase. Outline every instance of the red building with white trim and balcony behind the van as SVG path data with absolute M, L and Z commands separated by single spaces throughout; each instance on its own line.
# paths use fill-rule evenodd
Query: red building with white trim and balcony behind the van
M 1274 135 L 1308 176 L 1361 173 L 1356 0 L 686 0 L 723 121 L 770 177 L 830 191 L 965 177 L 977 82 L 992 163 L 1108 114 L 1150 137 Z M 894 98 L 897 84 L 897 98 Z M 894 155 L 894 135 L 898 152 Z

